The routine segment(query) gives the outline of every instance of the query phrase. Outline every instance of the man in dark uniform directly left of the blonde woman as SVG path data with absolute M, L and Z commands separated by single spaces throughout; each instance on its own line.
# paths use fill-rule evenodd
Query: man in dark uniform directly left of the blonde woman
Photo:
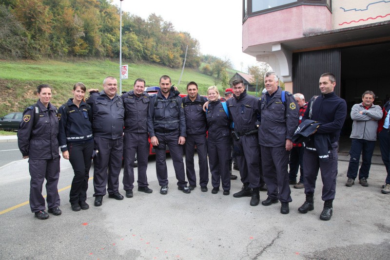
M 202 109 L 205 98 L 198 94 L 198 85 L 191 81 L 187 84 L 187 96 L 182 98 L 186 118 L 187 137 L 184 145 L 186 153 L 186 173 L 189 188 L 196 187 L 194 166 L 195 146 L 198 153 L 199 185 L 202 191 L 207 191 L 209 183 L 209 166 L 207 163 L 206 114 Z

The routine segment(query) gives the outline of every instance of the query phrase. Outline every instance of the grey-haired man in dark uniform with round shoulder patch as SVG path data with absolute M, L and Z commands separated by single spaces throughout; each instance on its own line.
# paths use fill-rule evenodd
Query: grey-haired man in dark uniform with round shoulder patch
M 262 155 L 264 180 L 268 187 L 268 198 L 261 202 L 265 206 L 282 203 L 280 213 L 288 214 L 291 190 L 289 186 L 289 156 L 292 135 L 298 126 L 298 109 L 294 96 L 278 86 L 275 72 L 264 75 L 267 92 L 261 97 L 261 122 L 259 144 Z

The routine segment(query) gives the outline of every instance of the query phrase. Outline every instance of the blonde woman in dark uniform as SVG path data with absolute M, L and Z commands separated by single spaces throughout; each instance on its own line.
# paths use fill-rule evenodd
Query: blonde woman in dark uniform
M 207 146 L 213 194 L 218 193 L 222 183 L 223 195 L 230 193 L 229 158 L 231 154 L 230 120 L 219 98 L 218 89 L 209 87 L 207 95 L 210 101 L 206 112 L 207 119 Z

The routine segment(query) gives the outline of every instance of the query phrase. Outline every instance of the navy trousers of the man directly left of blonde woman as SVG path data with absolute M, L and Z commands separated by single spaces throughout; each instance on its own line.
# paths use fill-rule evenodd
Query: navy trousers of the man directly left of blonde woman
M 186 173 L 188 183 L 196 186 L 196 174 L 194 165 L 195 146 L 198 153 L 199 185 L 207 186 L 209 183 L 209 166 L 207 163 L 207 139 L 206 134 L 187 134 L 184 149 L 186 151 Z

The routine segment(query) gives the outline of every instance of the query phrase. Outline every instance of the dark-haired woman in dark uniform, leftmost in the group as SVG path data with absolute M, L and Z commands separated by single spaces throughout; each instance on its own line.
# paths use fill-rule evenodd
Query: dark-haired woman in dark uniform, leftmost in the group
M 42 84 L 37 88 L 38 101 L 26 108 L 18 131 L 18 145 L 23 159 L 28 158 L 30 181 L 30 208 L 35 217 L 47 219 L 42 185 L 46 179 L 47 207 L 53 215 L 61 215 L 59 194 L 59 121 L 57 108 L 50 103 L 52 88 Z

